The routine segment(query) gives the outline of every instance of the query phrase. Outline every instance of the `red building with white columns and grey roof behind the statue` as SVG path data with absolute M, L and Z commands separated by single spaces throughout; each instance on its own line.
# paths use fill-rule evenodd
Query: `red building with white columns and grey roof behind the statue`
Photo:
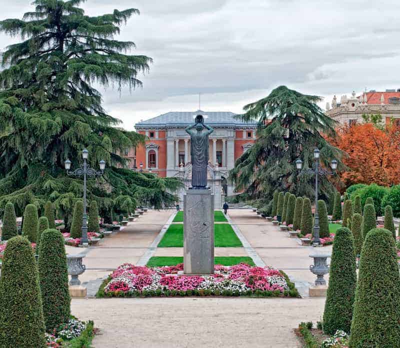
M 243 123 L 231 112 L 168 112 L 140 121 L 135 129 L 146 136 L 145 145 L 126 149 L 124 157 L 130 160 L 130 168 L 151 170 L 162 177 L 181 177 L 188 187 L 191 181 L 190 136 L 185 128 L 194 123 L 198 114 L 203 115 L 204 123 L 214 129 L 208 145 L 209 187 L 231 195 L 233 187 L 226 182 L 228 171 L 233 168 L 235 160 L 252 146 L 256 129 L 255 123 Z M 219 186 L 213 182 L 218 180 Z M 215 206 L 219 206 L 218 202 Z

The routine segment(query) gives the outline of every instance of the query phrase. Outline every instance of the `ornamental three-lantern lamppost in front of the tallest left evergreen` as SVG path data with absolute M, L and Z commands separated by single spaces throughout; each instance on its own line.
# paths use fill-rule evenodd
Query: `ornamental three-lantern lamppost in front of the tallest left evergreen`
M 104 173 L 105 162 L 103 160 L 99 161 L 98 164 L 100 166 L 100 170 L 96 171 L 93 168 L 90 168 L 87 164 L 87 156 L 89 152 L 86 149 L 82 151 L 83 158 L 83 167 L 77 168 L 74 171 L 70 172 L 71 169 L 71 161 L 66 160 L 64 162 L 65 170 L 67 175 L 73 176 L 82 176 L 83 175 L 83 219 L 82 219 L 82 236 L 80 238 L 80 245 L 87 246 L 89 244 L 89 240 L 87 239 L 87 212 L 86 212 L 86 176 L 101 176 Z

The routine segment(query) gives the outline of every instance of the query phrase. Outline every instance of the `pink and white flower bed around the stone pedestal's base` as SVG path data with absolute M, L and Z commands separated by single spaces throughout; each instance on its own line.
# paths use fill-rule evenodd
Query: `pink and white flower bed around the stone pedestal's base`
M 140 295 L 287 295 L 285 277 L 272 267 L 256 267 L 240 263 L 234 266 L 215 265 L 215 274 L 178 275 L 183 264 L 149 268 L 124 263 L 110 275 L 104 287 L 107 296 Z

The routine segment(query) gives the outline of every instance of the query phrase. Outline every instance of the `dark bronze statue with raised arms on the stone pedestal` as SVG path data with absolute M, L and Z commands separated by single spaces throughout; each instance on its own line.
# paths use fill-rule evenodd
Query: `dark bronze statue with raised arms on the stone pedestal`
M 195 129 L 195 131 L 193 130 Z M 203 132 L 203 129 L 206 129 Z M 202 115 L 197 115 L 194 125 L 185 129 L 190 135 L 190 156 L 191 156 L 191 189 L 204 190 L 207 185 L 207 164 L 208 164 L 208 136 L 214 131 L 204 124 Z

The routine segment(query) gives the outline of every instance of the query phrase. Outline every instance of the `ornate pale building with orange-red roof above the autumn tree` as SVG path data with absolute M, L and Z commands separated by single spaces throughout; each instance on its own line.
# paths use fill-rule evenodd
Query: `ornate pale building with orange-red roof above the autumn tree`
M 394 121 L 400 126 L 400 89 L 385 92 L 369 91 L 356 96 L 341 96 L 340 102 L 333 97 L 331 105 L 326 103 L 326 115 L 341 124 L 351 125 L 363 121 L 363 114 L 380 114 L 385 123 Z

